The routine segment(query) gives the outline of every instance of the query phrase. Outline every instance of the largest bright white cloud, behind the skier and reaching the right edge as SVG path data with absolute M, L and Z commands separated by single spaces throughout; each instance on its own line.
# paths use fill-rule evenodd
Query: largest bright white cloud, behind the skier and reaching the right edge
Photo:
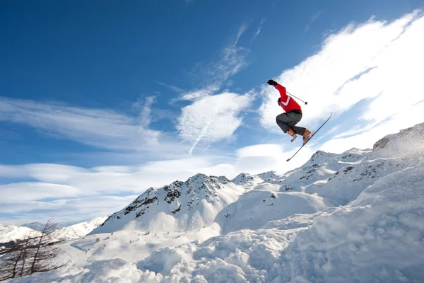
M 329 112 L 338 122 L 329 151 L 372 146 L 386 134 L 423 122 L 424 17 L 415 12 L 393 22 L 371 19 L 326 37 L 322 49 L 276 78 L 307 100 L 300 126 L 315 129 Z M 278 92 L 262 90 L 261 125 L 274 132 Z M 418 103 L 418 104 L 417 104 Z M 353 137 L 351 137 L 353 135 Z M 319 143 L 311 141 L 318 149 Z

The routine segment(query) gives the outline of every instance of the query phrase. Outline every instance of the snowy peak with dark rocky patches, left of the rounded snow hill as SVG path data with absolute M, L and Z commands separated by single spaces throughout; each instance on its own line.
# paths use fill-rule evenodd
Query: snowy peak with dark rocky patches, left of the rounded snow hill
M 146 190 L 90 235 L 122 229 L 167 232 L 204 228 L 213 224 L 216 214 L 243 192 L 243 187 L 225 177 L 197 174 L 185 182 Z

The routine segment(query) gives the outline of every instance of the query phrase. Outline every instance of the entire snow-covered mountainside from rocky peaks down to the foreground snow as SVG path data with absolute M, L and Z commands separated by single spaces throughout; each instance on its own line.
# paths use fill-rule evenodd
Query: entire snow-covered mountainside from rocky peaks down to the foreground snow
M 73 269 L 13 282 L 421 282 L 423 139 L 152 188 L 66 247 Z

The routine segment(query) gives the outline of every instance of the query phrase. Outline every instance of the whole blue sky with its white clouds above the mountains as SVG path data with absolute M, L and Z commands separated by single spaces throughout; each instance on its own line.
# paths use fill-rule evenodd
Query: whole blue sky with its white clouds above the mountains
M 149 186 L 283 173 L 423 122 L 423 1 L 0 6 L 1 222 L 94 218 Z M 290 163 L 271 78 L 309 101 L 299 125 L 334 112 Z

